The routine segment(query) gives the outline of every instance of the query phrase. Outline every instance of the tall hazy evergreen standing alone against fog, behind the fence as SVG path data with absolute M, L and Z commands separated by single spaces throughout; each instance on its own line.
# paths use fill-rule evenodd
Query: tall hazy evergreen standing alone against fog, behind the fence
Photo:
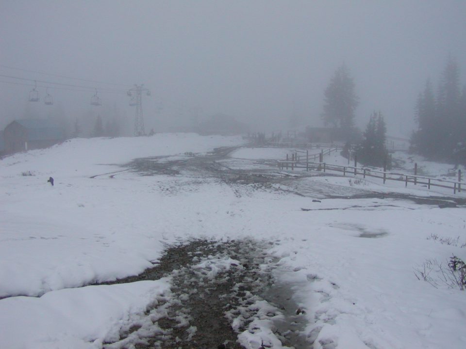
M 325 125 L 339 127 L 348 138 L 354 131 L 354 112 L 358 97 L 354 92 L 354 81 L 346 65 L 334 73 L 324 92 L 324 110 L 321 114 Z

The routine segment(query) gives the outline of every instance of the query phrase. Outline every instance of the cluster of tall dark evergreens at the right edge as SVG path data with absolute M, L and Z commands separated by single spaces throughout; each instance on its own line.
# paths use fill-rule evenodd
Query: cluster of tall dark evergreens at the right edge
M 460 69 L 449 57 L 436 94 L 428 79 L 416 101 L 417 131 L 414 152 L 433 160 L 466 164 L 466 85 L 461 90 Z

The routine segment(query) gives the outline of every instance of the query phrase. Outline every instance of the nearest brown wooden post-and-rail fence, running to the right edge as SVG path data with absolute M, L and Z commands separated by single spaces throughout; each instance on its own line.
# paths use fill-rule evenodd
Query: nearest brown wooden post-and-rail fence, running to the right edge
M 289 169 L 294 170 L 295 168 L 305 168 L 306 171 L 309 170 L 316 170 L 316 171 L 333 171 L 333 172 L 340 172 L 343 173 L 344 176 L 346 175 L 362 175 L 363 178 L 366 177 L 375 177 L 383 179 L 383 184 L 387 180 L 394 180 L 399 182 L 404 182 L 405 187 L 408 186 L 408 183 L 413 183 L 414 185 L 426 185 L 428 189 L 431 187 L 441 187 L 441 188 L 448 188 L 453 190 L 453 194 L 456 192 L 461 192 L 461 186 L 466 188 L 466 183 L 461 182 L 461 170 L 458 170 L 458 180 L 451 181 L 446 179 L 439 179 L 439 178 L 432 178 L 426 176 L 420 176 L 417 174 L 401 174 L 395 172 L 387 172 L 387 171 L 376 171 L 372 169 L 367 169 L 364 167 L 357 167 L 357 166 L 341 166 L 341 165 L 333 165 L 323 162 L 323 157 L 325 155 L 331 154 L 334 151 L 337 151 L 338 148 L 329 148 L 327 150 L 322 150 L 320 153 L 317 154 L 309 154 L 309 151 L 299 151 L 296 150 L 295 153 L 291 155 L 291 157 L 286 156 L 286 160 L 279 160 L 277 161 L 278 168 L 280 169 Z M 298 155 L 301 153 L 305 153 L 306 155 Z M 319 161 L 316 161 L 316 159 Z

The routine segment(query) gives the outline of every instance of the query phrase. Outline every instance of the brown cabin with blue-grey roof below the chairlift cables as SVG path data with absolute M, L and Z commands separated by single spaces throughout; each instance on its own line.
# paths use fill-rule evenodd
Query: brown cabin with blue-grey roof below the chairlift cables
M 63 135 L 63 130 L 47 119 L 15 120 L 3 131 L 5 153 L 47 148 L 62 142 Z

